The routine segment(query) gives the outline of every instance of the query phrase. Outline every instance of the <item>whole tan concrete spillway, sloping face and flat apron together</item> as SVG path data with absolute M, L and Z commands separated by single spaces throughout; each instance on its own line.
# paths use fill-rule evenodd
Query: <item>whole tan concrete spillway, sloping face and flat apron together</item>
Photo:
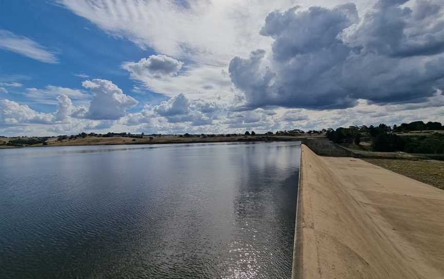
M 444 278 L 444 191 L 302 146 L 293 278 Z

